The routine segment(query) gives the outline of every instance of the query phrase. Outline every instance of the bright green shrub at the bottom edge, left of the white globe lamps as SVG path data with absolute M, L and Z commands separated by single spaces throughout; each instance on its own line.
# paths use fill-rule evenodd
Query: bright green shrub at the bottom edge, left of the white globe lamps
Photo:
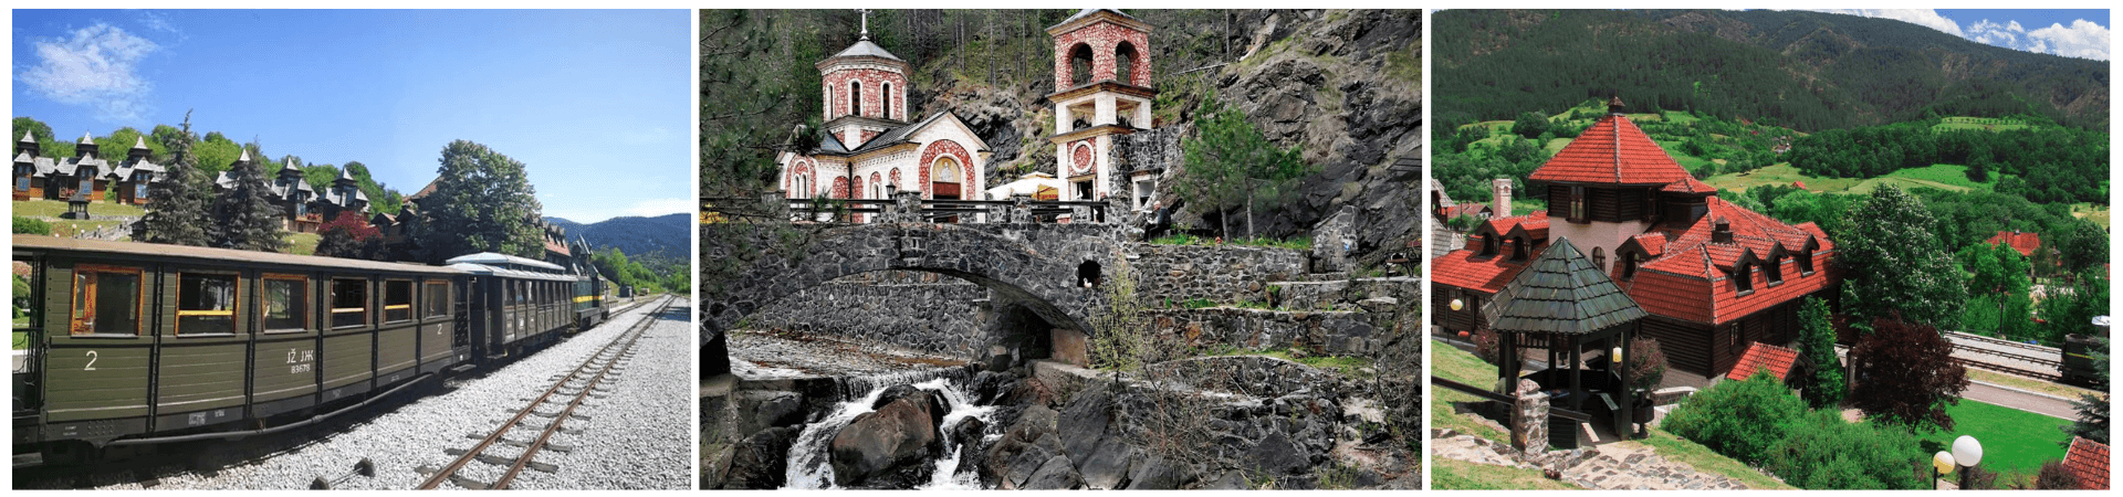
M 1809 491 L 1919 489 L 1919 465 L 1928 467 L 1917 438 L 1872 423 L 1845 423 L 1836 410 L 1815 410 L 1798 418 L 1764 455 L 1764 465 L 1783 482 Z

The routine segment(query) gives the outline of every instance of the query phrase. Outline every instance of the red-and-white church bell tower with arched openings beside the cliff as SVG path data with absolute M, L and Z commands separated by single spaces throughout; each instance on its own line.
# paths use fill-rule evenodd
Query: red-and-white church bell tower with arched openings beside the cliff
M 1104 200 L 1112 191 L 1115 136 L 1151 127 L 1151 23 L 1112 8 L 1085 8 L 1047 28 L 1055 38 L 1055 178 L 1062 200 Z

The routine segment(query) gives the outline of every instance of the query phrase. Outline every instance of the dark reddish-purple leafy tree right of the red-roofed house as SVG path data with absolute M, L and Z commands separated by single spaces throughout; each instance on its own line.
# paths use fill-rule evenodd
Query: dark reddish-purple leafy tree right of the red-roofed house
M 1851 348 L 1858 387 L 1851 406 L 1900 427 L 1953 429 L 1947 406 L 1960 404 L 1968 372 L 1953 363 L 1953 344 L 1932 325 L 1896 316 L 1872 321 L 1872 333 Z

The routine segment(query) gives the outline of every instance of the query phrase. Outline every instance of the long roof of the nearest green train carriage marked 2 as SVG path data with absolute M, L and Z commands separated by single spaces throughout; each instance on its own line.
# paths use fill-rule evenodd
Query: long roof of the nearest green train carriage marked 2
M 340 257 L 316 257 L 316 255 L 183 246 L 183 244 L 106 242 L 106 240 L 76 240 L 76 238 L 23 236 L 23 234 L 17 234 L 13 242 L 15 251 L 25 251 L 25 248 L 72 251 L 72 253 L 172 257 L 172 259 L 197 259 L 197 261 L 276 263 L 276 265 L 306 265 L 318 270 L 374 270 L 374 272 L 416 272 L 416 274 L 446 274 L 446 276 L 463 274 L 463 270 L 425 265 L 425 263 L 363 261 L 363 259 L 340 259 Z

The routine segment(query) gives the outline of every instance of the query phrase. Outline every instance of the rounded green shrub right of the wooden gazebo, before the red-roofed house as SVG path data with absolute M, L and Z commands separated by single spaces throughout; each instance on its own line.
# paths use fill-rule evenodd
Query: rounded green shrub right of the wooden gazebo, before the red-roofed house
M 1741 463 L 1760 465 L 1783 440 L 1788 425 L 1807 412 L 1807 401 L 1783 389 L 1775 376 L 1756 372 L 1741 382 L 1718 382 L 1673 408 L 1667 431 L 1694 440 Z

